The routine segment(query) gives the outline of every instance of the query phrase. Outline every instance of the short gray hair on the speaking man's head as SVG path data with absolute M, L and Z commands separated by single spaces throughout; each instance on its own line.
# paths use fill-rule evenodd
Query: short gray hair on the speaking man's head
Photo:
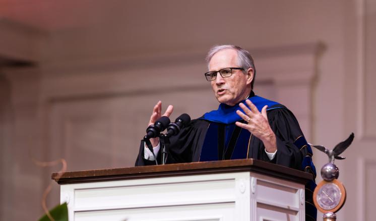
M 244 69 L 243 70 L 244 74 L 246 73 L 246 70 L 248 70 L 248 68 L 252 68 L 254 70 L 254 78 L 253 78 L 252 82 L 250 83 L 250 88 L 253 89 L 254 83 L 255 83 L 255 78 L 256 78 L 256 68 L 255 68 L 254 60 L 253 60 L 252 56 L 250 56 L 250 54 L 247 50 L 244 50 L 243 48 L 241 48 L 239 46 L 232 45 L 232 44 L 224 44 L 224 45 L 216 45 L 216 46 L 210 48 L 208 55 L 206 57 L 208 69 L 209 69 L 210 60 L 212 60 L 214 54 L 216 54 L 218 51 L 221 51 L 221 50 L 224 50 L 224 49 L 234 49 L 234 50 L 236 50 L 238 65 L 239 65 L 239 67 Z

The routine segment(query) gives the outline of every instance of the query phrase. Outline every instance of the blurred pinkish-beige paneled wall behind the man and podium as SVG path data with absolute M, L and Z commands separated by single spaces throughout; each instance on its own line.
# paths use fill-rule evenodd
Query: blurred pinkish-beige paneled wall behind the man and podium
M 289 107 L 308 142 L 355 133 L 336 161 L 348 192 L 338 220 L 372 220 L 375 27 L 374 0 L 0 0 L 0 220 L 42 215 L 60 167 L 32 158 L 132 167 L 158 100 L 174 105 L 171 120 L 216 109 L 203 75 L 216 44 L 250 51 L 256 94 Z M 320 174 L 327 156 L 313 158 Z M 58 202 L 54 184 L 48 206 Z

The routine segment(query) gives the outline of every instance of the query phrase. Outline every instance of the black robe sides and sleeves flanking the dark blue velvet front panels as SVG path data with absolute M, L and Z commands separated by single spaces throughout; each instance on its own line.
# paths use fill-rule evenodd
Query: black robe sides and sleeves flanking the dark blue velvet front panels
M 303 156 L 306 155 L 306 149 L 299 150 L 294 144 L 294 141 L 303 135 L 296 118 L 287 108 L 271 109 L 267 115 L 269 124 L 277 138 L 277 154 L 274 159 L 269 160 L 263 142 L 252 136 L 248 158 L 271 161 L 285 167 L 301 170 L 301 162 Z M 167 163 L 200 161 L 201 149 L 209 124 L 209 121 L 202 119 L 192 120 L 177 136 L 171 137 Z M 157 155 L 158 161 L 160 161 L 160 155 L 159 152 Z M 143 156 L 144 142 L 142 141 L 136 166 L 155 164 L 155 161 L 144 159 Z

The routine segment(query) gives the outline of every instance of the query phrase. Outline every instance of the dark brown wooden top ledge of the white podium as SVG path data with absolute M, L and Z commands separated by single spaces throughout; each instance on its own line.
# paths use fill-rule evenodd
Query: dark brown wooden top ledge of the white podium
M 144 179 L 166 176 L 199 175 L 207 173 L 256 172 L 306 184 L 313 176 L 309 173 L 283 167 L 257 159 L 236 159 L 208 162 L 149 165 L 144 167 L 114 168 L 91 171 L 53 173 L 51 178 L 58 184 L 90 183 L 114 180 Z M 58 177 L 61 175 L 60 179 Z

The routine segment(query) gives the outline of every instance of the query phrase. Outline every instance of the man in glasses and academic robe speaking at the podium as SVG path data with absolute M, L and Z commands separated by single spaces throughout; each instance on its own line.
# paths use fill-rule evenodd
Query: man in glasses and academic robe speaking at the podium
M 235 45 L 213 47 L 207 56 L 210 81 L 220 102 L 216 111 L 191 121 L 171 137 L 168 163 L 255 158 L 314 174 L 312 151 L 293 114 L 282 104 L 253 92 L 256 69 L 249 52 Z M 159 119 L 161 101 L 153 109 L 149 125 Z M 169 117 L 169 105 L 163 116 Z M 150 139 L 160 161 L 159 140 Z M 136 165 L 155 164 L 152 152 L 142 142 Z M 307 185 L 306 220 L 316 220 L 312 202 L 315 182 Z

